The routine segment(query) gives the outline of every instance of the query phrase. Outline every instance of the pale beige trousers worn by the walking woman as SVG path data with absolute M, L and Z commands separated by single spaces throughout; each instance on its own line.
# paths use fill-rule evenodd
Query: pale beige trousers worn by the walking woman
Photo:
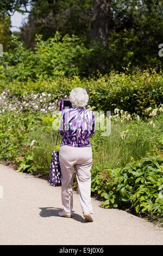
M 82 211 L 92 214 L 91 205 L 91 147 L 60 147 L 59 162 L 61 168 L 61 199 L 63 213 L 71 215 L 73 209 L 73 175 L 76 169 L 78 192 Z

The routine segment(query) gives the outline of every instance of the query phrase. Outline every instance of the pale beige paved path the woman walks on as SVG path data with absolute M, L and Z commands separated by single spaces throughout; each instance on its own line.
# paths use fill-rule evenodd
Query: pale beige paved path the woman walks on
M 163 245 L 163 229 L 92 199 L 85 222 L 74 192 L 73 218 L 59 217 L 61 188 L 0 164 L 0 245 Z

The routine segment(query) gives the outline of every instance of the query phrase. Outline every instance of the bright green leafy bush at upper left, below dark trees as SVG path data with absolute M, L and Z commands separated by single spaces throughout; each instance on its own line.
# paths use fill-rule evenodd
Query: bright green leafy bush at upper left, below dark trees
M 84 56 L 89 50 L 80 43 L 77 36 L 61 35 L 57 32 L 54 38 L 43 41 L 41 35 L 36 37 L 35 52 L 27 50 L 21 41 L 12 35 L 14 49 L 4 52 L 4 62 L 1 67 L 1 77 L 6 82 L 15 80 L 33 81 L 47 80 L 60 76 L 82 75 L 84 72 Z M 87 63 L 87 62 L 86 62 Z

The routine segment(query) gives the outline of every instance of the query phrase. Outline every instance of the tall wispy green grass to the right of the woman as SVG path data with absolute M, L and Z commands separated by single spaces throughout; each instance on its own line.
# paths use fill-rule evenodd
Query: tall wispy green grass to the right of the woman
M 100 132 L 97 131 L 92 138 L 93 172 L 124 167 L 129 161 L 140 160 L 147 154 L 155 155 L 159 151 L 161 154 L 163 148 L 162 116 L 155 119 L 154 127 L 147 125 L 148 122 L 134 119 L 121 124 L 112 121 L 111 133 L 108 137 L 101 137 Z M 122 139 L 122 132 L 127 130 L 126 137 Z

